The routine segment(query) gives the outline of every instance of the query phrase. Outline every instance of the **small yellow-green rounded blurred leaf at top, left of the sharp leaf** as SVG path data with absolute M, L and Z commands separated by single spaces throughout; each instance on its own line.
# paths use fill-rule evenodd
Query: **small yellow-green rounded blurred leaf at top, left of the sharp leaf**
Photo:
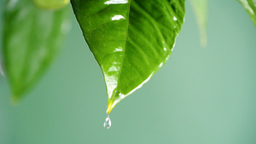
M 60 9 L 69 3 L 69 0 L 33 0 L 42 9 Z

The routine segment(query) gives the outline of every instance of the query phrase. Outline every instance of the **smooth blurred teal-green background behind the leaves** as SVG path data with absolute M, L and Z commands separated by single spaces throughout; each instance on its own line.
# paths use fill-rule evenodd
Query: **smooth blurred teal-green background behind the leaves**
M 256 29 L 240 3 L 208 4 L 207 47 L 188 1 L 170 60 L 113 109 L 110 130 L 102 72 L 72 14 L 65 48 L 18 106 L 0 76 L 0 144 L 256 144 Z

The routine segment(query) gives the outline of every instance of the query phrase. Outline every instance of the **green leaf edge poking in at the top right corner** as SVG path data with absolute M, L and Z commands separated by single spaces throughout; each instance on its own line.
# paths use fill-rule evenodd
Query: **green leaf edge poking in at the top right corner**
M 254 26 L 256 26 L 256 0 L 239 0 L 244 9 L 250 15 L 253 20 Z

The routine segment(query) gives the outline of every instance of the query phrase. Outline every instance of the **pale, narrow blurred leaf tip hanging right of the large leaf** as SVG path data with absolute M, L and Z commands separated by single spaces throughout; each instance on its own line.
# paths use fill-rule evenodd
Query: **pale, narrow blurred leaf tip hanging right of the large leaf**
M 201 46 L 207 46 L 207 0 L 190 0 L 197 19 Z

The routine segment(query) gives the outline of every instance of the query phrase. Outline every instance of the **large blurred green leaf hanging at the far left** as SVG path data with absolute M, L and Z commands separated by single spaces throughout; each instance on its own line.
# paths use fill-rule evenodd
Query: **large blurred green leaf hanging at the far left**
M 15 100 L 32 88 L 60 50 L 67 12 L 38 9 L 31 0 L 5 1 L 3 62 Z

